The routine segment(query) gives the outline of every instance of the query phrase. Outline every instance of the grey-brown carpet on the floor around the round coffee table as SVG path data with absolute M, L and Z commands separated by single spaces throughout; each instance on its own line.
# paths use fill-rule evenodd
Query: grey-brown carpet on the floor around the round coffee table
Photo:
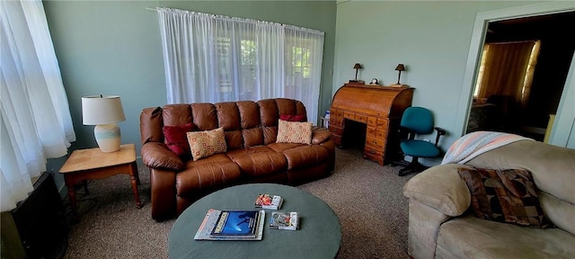
M 328 203 L 340 218 L 338 258 L 409 258 L 402 188 L 413 174 L 400 177 L 399 168 L 365 160 L 356 149 L 337 149 L 334 174 L 298 186 Z M 144 207 L 136 208 L 128 175 L 89 182 L 89 195 L 83 190 L 76 194 L 80 222 L 70 226 L 67 246 L 57 257 L 168 258 L 167 238 L 175 219 L 151 219 L 149 173 L 145 166 L 138 169 Z

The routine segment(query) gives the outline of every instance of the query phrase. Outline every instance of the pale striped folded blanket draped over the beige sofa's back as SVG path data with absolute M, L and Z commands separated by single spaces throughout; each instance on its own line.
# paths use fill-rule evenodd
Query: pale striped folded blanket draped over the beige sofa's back
M 534 140 L 510 133 L 494 131 L 475 131 L 459 138 L 447 150 L 446 156 L 443 157 L 441 165 L 456 163 L 465 164 L 475 156 L 495 149 L 497 147 L 508 145 L 518 140 Z

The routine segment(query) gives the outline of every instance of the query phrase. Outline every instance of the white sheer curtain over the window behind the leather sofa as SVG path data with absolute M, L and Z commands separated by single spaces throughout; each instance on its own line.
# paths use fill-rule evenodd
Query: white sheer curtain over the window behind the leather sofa
M 168 103 L 300 100 L 316 122 L 323 32 L 157 8 Z

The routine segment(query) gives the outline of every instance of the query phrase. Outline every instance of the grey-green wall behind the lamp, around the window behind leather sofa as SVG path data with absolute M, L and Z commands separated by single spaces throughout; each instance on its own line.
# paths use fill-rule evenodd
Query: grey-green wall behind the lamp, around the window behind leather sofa
M 158 17 L 154 11 L 146 10 L 157 6 L 280 22 L 324 31 L 319 110 L 325 112 L 329 109 L 335 45 L 335 1 L 43 3 L 78 139 L 71 149 L 97 147 L 93 126 L 82 125 L 82 96 L 119 94 L 126 113 L 126 121 L 119 123 L 122 144 L 135 143 L 139 156 L 139 114 L 142 108 L 166 103 Z M 59 167 L 55 170 L 59 170 Z

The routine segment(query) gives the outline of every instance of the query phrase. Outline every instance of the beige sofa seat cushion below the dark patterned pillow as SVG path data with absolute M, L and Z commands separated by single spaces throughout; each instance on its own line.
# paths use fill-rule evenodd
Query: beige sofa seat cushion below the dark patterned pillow
M 575 258 L 575 236 L 560 228 L 525 228 L 476 219 L 450 219 L 438 233 L 436 258 Z

